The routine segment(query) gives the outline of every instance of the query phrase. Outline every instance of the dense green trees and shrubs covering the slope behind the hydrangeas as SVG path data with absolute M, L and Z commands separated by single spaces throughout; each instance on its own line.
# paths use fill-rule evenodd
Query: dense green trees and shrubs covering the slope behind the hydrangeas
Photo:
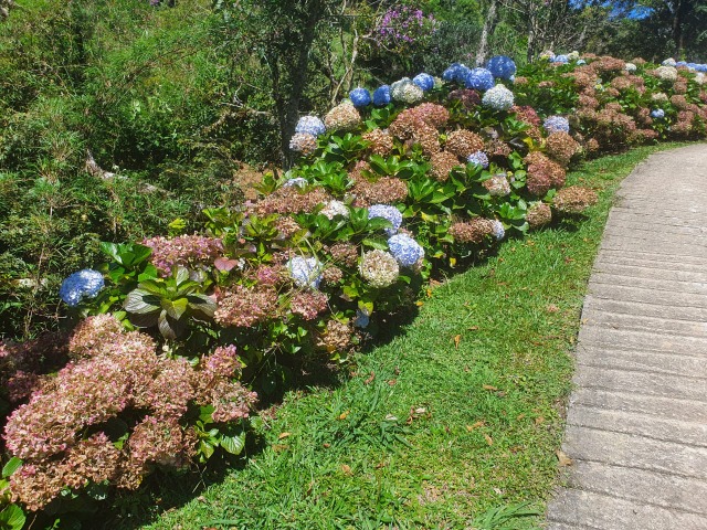
M 50 295 L 97 241 L 166 234 L 238 201 L 234 165 L 289 163 L 302 113 L 372 80 L 473 64 L 484 29 L 488 50 L 520 62 L 549 45 L 663 59 L 682 13 L 678 53 L 705 59 L 698 1 L 646 3 L 643 18 L 636 2 L 411 6 L 434 32 L 387 43 L 376 32 L 395 4 L 383 1 L 18 1 L 0 24 L 0 335 L 56 328 Z M 86 174 L 88 150 L 127 180 Z

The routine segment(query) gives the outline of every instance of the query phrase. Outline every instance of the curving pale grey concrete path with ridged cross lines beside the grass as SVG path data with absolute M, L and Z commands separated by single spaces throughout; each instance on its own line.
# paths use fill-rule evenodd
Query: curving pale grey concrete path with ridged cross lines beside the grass
M 653 155 L 582 310 L 550 530 L 707 530 L 707 145 Z

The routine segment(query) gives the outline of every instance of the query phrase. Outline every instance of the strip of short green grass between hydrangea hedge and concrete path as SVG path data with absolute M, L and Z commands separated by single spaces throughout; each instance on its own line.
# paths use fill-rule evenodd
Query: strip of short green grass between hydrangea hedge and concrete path
M 614 191 L 647 155 L 676 146 L 583 165 L 569 180 L 600 191 L 587 216 L 433 286 L 412 324 L 359 354 L 340 384 L 263 411 L 258 447 L 238 469 L 200 492 L 169 479 L 158 506 L 143 499 L 110 528 L 166 508 L 144 528 L 537 528 Z

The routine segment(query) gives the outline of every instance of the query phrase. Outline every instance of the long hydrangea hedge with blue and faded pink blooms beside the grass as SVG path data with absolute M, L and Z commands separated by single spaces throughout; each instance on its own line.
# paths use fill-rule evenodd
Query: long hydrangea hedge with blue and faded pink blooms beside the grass
M 22 459 L 13 498 L 43 509 L 238 453 L 246 385 L 267 391 L 297 359 L 345 360 L 380 316 L 410 312 L 425 279 L 581 214 L 597 195 L 564 186 L 576 160 L 706 136 L 697 66 L 547 59 L 358 87 L 299 120 L 299 163 L 256 200 L 204 210 L 199 233 L 104 245 L 107 263 L 62 286 L 88 318 L 54 378 L 0 346 L 20 403 L 4 430 Z

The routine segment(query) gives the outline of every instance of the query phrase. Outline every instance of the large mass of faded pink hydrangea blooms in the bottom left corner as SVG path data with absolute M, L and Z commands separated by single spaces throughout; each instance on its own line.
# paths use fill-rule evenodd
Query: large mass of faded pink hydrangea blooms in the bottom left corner
M 99 338 L 99 340 L 96 340 Z M 183 426 L 191 404 L 212 405 L 215 422 L 247 417 L 256 395 L 232 378 L 235 347 L 219 348 L 193 368 L 156 353 L 147 335 L 125 332 L 113 317 L 89 317 L 71 340 L 76 358 L 43 381 L 4 428 L 8 451 L 23 464 L 10 477 L 15 501 L 39 510 L 64 488 L 108 481 L 135 489 L 155 465 L 184 467 L 197 437 Z M 123 448 L 102 425 L 144 414 Z M 85 438 L 86 430 L 95 432 Z

